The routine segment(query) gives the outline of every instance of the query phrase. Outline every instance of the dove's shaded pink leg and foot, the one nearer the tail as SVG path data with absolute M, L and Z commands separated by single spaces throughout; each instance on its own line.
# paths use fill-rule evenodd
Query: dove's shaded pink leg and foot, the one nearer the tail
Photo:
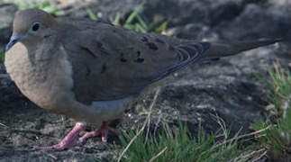
M 102 141 L 106 142 L 107 141 L 107 135 L 108 135 L 108 131 L 112 131 L 114 134 L 118 135 L 118 130 L 114 130 L 113 128 L 108 126 L 108 121 L 104 121 L 103 124 L 101 125 L 101 127 L 97 130 L 94 131 L 82 131 L 81 134 L 81 138 L 79 138 L 77 140 L 77 142 L 75 142 L 73 144 L 73 146 L 82 146 L 86 139 L 88 138 L 92 138 L 95 136 L 98 136 L 101 134 L 101 139 Z

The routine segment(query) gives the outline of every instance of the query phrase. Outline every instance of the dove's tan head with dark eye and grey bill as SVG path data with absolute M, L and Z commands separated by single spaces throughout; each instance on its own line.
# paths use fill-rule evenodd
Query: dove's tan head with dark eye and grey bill
M 11 49 L 18 41 L 38 41 L 50 36 L 50 27 L 56 21 L 50 14 L 38 9 L 19 11 L 14 18 L 13 35 L 7 44 L 5 51 Z

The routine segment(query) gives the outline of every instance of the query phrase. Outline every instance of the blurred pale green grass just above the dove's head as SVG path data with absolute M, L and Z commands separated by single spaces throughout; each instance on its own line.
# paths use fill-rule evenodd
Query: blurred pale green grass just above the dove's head
M 54 17 L 59 17 L 64 15 L 65 13 L 59 8 L 51 4 L 50 1 L 44 1 L 43 3 L 37 2 L 36 0 L 33 1 L 25 1 L 25 0 L 14 0 L 14 4 L 16 4 L 21 10 L 29 9 L 29 8 L 36 8 L 43 10 Z

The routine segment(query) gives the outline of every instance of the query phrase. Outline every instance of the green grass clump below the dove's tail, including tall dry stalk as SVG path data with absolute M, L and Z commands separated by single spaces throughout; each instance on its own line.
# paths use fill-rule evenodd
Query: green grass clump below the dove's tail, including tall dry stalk
M 217 121 L 222 126 L 223 135 L 218 134 L 218 131 L 208 135 L 199 124 L 198 134 L 194 137 L 190 134 L 186 124 L 183 125 L 180 120 L 178 120 L 177 130 L 173 130 L 165 123 L 158 133 L 150 133 L 150 113 L 157 101 L 158 94 L 159 92 L 156 93 L 150 105 L 150 112 L 142 128 L 123 131 L 120 136 L 122 150 L 116 153 L 115 161 L 226 162 L 247 161 L 252 158 L 245 156 L 249 153 L 249 148 L 239 148 L 238 139 L 240 137 L 238 134 L 232 139 L 229 138 L 231 131 L 226 130 L 223 120 L 218 117 Z M 145 129 L 146 126 L 148 126 L 148 130 Z

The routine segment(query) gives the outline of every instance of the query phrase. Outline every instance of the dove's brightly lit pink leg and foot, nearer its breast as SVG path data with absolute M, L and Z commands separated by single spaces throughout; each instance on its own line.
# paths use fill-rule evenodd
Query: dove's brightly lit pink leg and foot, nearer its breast
M 74 145 L 74 139 L 77 135 L 86 128 L 86 123 L 77 122 L 73 130 L 70 130 L 68 135 L 62 139 L 59 144 L 50 147 L 34 147 L 34 150 L 64 150 L 65 148 Z

